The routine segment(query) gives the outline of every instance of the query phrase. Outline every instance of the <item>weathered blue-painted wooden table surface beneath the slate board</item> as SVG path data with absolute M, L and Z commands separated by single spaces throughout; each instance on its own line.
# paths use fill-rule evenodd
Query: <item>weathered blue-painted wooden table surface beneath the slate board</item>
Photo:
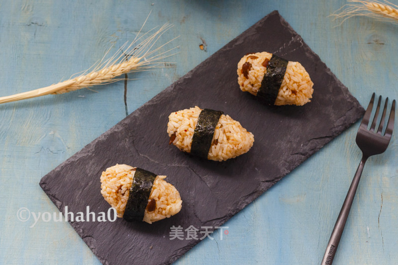
M 144 31 L 173 23 L 159 44 L 180 35 L 172 44 L 179 53 L 168 59 L 171 67 L 128 75 L 130 114 L 277 9 L 363 106 L 373 91 L 398 99 L 398 24 L 354 17 L 338 25 L 328 15 L 345 3 L 2 0 L 0 96 L 89 68 L 112 45 L 110 53 L 134 39 L 152 10 Z M 0 105 L 0 264 L 100 264 L 69 223 L 33 218 L 58 212 L 38 185 L 41 177 L 126 116 L 124 82 L 94 89 Z M 216 231 L 175 264 L 320 264 L 361 157 L 358 125 L 225 223 L 222 240 Z M 365 166 L 334 264 L 397 264 L 397 132 Z M 23 207 L 31 213 L 26 222 L 17 218 Z

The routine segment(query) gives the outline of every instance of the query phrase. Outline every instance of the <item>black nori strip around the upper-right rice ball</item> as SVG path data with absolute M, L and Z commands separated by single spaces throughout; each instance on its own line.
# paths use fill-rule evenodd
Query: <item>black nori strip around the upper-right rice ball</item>
M 271 60 L 268 62 L 267 72 L 265 72 L 261 81 L 261 87 L 257 92 L 257 98 L 261 103 L 267 105 L 275 104 L 288 62 L 275 54 L 272 55 Z

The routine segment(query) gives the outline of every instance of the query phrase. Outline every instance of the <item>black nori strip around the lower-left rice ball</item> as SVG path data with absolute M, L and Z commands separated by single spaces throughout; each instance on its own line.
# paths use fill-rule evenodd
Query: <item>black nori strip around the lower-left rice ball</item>
M 142 221 L 145 208 L 148 205 L 156 174 L 141 168 L 136 168 L 133 183 L 131 184 L 123 218 L 128 221 Z

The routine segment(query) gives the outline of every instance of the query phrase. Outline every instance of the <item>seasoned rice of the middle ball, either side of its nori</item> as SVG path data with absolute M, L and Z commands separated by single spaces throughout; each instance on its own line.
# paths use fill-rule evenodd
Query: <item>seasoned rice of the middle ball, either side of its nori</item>
M 173 144 L 180 150 L 190 153 L 192 137 L 198 123 L 201 109 L 185 109 L 173 112 L 169 116 L 167 133 L 176 134 Z M 225 161 L 244 154 L 253 146 L 254 136 L 247 132 L 239 122 L 228 115 L 221 115 L 215 128 L 214 136 L 207 155 L 207 159 Z

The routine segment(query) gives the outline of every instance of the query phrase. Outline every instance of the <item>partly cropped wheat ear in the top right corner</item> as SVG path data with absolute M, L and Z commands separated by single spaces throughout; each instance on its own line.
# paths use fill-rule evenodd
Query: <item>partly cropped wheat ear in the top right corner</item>
M 378 20 L 398 23 L 398 5 L 395 5 L 387 0 L 348 1 L 352 3 L 343 5 L 333 14 L 331 14 L 331 16 L 334 16 L 334 19 L 343 19 L 340 24 L 353 16 L 369 16 Z

